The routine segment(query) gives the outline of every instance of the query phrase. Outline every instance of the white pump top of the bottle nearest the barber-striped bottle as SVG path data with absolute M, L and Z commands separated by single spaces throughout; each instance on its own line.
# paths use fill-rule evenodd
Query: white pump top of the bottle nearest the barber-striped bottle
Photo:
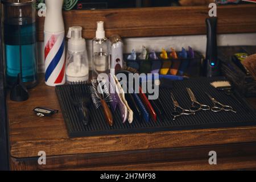
M 85 39 L 82 38 L 82 27 L 69 27 L 68 34 L 68 50 L 82 52 L 85 51 Z

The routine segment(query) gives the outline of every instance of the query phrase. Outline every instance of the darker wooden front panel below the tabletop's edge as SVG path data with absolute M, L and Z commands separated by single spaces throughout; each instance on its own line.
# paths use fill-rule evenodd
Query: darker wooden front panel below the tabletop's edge
M 217 152 L 217 165 L 209 165 L 209 151 Z M 256 143 L 163 148 L 93 154 L 11 158 L 15 170 L 217 170 L 256 168 Z

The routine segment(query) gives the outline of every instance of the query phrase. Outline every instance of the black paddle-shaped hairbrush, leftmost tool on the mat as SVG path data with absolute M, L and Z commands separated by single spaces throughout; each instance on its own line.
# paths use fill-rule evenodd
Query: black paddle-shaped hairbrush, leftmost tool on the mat
M 88 105 L 90 104 L 90 98 L 85 95 L 85 86 L 82 85 L 82 82 L 71 82 L 69 84 L 69 92 L 71 94 L 71 100 L 73 105 L 78 109 L 77 115 L 79 120 L 88 125 L 90 122 Z

